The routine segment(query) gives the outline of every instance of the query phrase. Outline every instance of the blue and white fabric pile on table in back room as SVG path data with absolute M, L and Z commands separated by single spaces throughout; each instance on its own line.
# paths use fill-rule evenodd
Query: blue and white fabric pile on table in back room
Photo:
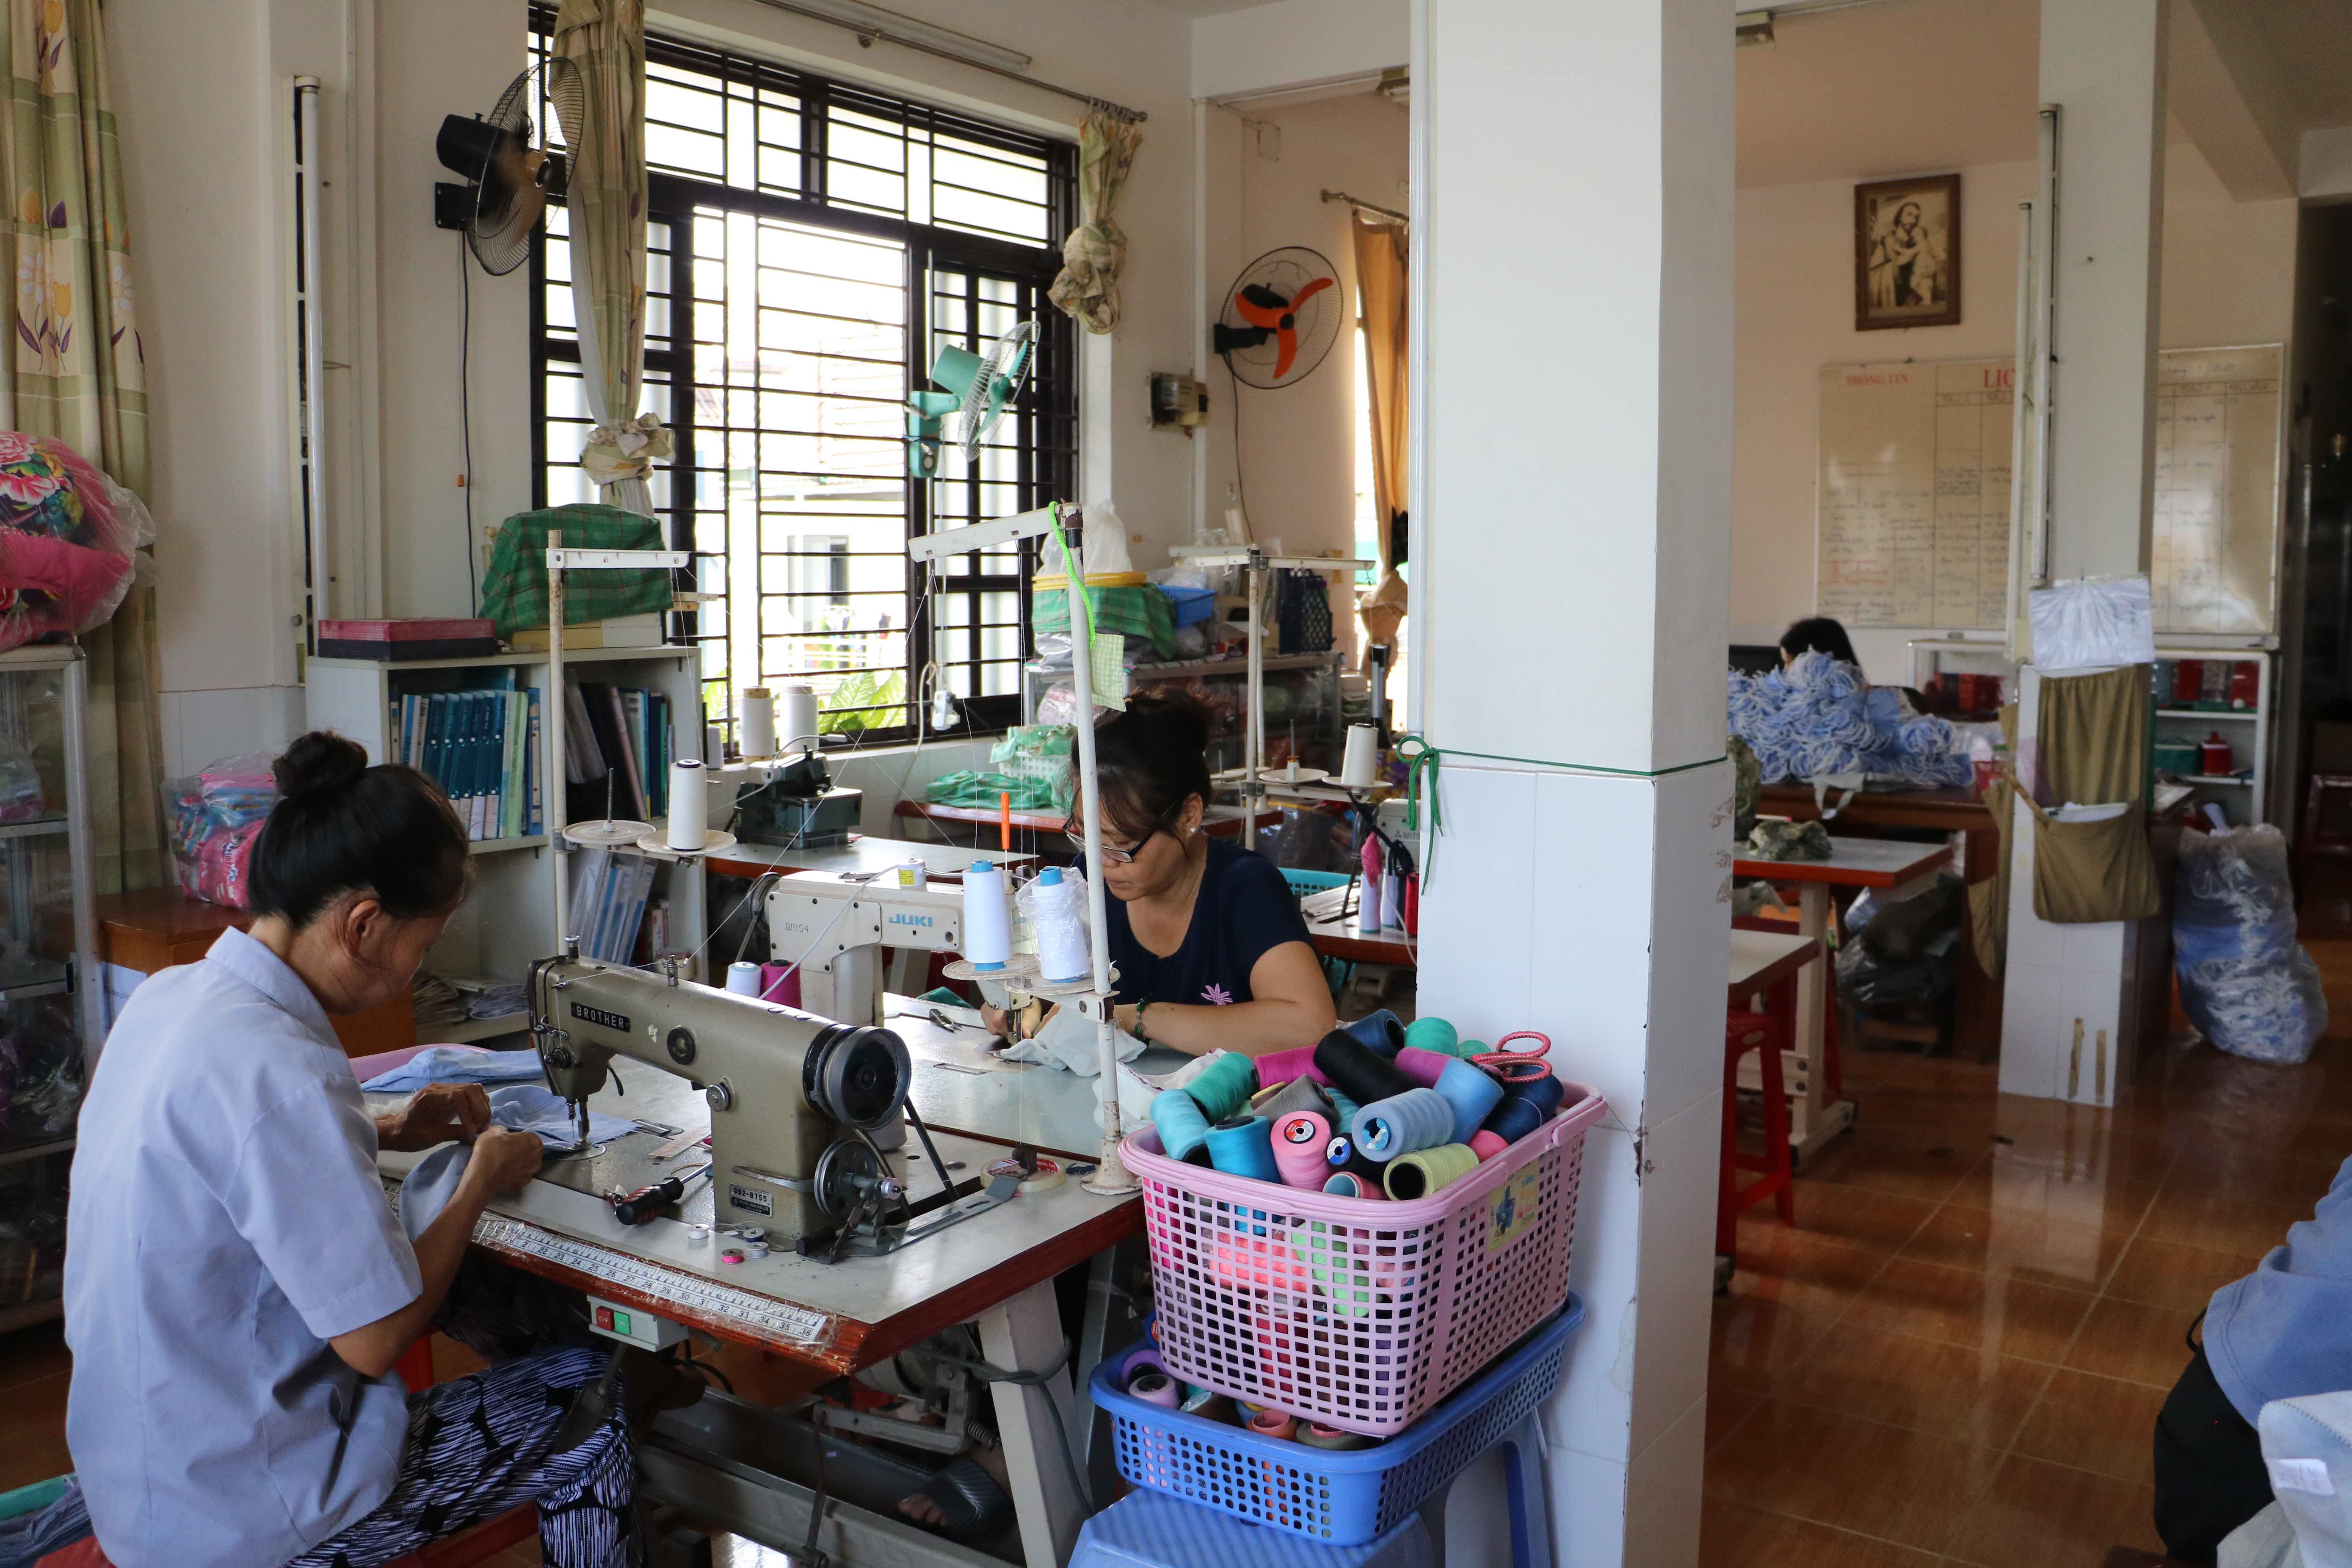
M 1764 783 L 1823 773 L 1879 773 L 1924 790 L 1971 778 L 1959 733 L 1910 710 L 1893 686 L 1828 654 L 1799 654 L 1785 670 L 1731 670 L 1731 733 L 1748 743 Z

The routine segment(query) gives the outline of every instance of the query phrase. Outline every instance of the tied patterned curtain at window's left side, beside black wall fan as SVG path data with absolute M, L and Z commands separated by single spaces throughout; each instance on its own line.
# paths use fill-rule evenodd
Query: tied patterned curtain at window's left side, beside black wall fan
M 572 303 L 595 428 L 581 468 L 602 501 L 652 512 L 647 477 L 670 433 L 637 414 L 644 390 L 644 0 L 564 0 L 555 54 L 581 73 L 564 207 L 572 219 Z M 567 106 L 564 96 L 557 103 Z

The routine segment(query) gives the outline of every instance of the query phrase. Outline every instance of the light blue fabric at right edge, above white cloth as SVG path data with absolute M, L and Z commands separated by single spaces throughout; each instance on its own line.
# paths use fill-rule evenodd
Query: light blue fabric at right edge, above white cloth
M 2204 1345 L 2213 1380 L 2249 1422 L 2272 1399 L 2352 1389 L 2352 1159 L 2312 1218 L 2286 1227 L 2284 1246 L 2213 1293 Z

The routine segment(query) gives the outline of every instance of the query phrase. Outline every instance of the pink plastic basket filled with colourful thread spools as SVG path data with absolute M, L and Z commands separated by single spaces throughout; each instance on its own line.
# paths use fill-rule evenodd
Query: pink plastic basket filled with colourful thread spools
M 1416 1204 L 1225 1175 L 1129 1135 L 1169 1375 L 1367 1436 L 1409 1427 L 1569 1295 L 1585 1128 L 1606 1105 L 1566 1091 L 1550 1126 Z

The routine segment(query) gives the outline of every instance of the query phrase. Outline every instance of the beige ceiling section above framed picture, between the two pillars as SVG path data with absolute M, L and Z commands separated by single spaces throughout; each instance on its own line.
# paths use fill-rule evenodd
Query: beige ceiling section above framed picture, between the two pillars
M 1771 45 L 1736 54 L 1738 181 L 2032 158 L 2039 54 L 2039 0 L 1886 0 L 1780 16 Z

